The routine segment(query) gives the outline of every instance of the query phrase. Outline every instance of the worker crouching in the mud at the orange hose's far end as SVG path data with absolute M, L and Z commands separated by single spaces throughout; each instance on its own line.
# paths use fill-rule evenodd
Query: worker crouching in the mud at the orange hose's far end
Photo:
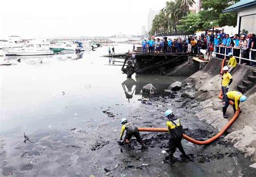
M 122 130 L 121 130 L 121 134 L 120 134 L 120 140 L 123 140 L 123 134 L 124 134 L 124 131 L 126 130 L 126 134 L 125 134 L 124 140 L 122 141 L 121 145 L 124 145 L 124 144 L 130 145 L 130 139 L 132 138 L 132 136 L 134 136 L 134 137 L 136 137 L 137 141 L 139 141 L 139 143 L 142 145 L 142 148 L 147 149 L 142 138 L 139 135 L 137 126 L 135 126 L 131 122 L 128 122 L 126 118 L 122 118 L 121 123 L 123 126 L 122 126 Z

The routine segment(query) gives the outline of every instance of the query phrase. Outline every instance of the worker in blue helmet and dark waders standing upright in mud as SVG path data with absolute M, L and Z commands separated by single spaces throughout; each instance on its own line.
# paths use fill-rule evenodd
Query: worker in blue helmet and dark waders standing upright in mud
M 175 117 L 173 111 L 170 109 L 165 111 L 165 117 L 169 119 L 169 121 L 166 122 L 166 125 L 170 133 L 169 154 L 171 163 L 174 162 L 173 154 L 176 151 L 177 147 L 183 154 L 184 158 L 190 159 L 190 157 L 188 157 L 188 155 L 185 153 L 181 144 L 181 139 L 183 138 L 183 126 L 181 125 L 180 119 Z

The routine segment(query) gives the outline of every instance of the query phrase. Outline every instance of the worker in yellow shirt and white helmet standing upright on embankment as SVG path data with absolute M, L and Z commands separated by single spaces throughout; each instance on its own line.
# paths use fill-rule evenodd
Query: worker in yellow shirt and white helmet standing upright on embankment
M 224 66 L 223 67 L 223 76 L 221 77 L 222 80 L 222 83 L 221 83 L 221 90 L 222 90 L 222 93 L 223 93 L 223 102 L 225 102 L 225 97 L 226 97 L 226 93 L 228 91 L 228 87 L 230 87 L 230 84 L 232 83 L 233 79 L 232 79 L 232 76 L 230 73 L 228 73 L 228 67 L 227 66 Z

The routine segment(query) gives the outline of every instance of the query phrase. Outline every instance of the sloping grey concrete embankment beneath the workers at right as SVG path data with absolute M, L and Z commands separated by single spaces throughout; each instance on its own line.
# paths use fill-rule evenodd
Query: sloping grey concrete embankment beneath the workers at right
M 230 106 L 227 111 L 228 118 L 223 118 L 222 107 L 218 95 L 220 93 L 220 68 L 222 60 L 212 59 L 198 72 L 188 77 L 183 83 L 183 95 L 197 100 L 191 103 L 191 114 L 202 121 L 212 125 L 214 128 L 222 129 L 234 115 Z M 252 75 L 252 67 L 238 65 L 233 70 L 233 82 L 229 91 L 237 90 L 242 82 L 246 82 L 247 76 Z M 178 72 L 178 71 L 176 71 Z M 245 84 L 245 83 L 244 83 Z M 191 86 L 191 87 L 186 87 Z M 245 91 L 247 101 L 240 104 L 241 114 L 235 123 L 228 129 L 225 139 L 231 141 L 234 147 L 238 148 L 245 157 L 256 161 L 256 85 L 255 82 Z

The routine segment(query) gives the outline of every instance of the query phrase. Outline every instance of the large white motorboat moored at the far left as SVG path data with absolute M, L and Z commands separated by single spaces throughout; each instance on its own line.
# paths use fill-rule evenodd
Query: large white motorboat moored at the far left
M 52 55 L 53 51 L 45 41 L 31 40 L 21 48 L 5 48 L 3 54 L 5 56 Z

